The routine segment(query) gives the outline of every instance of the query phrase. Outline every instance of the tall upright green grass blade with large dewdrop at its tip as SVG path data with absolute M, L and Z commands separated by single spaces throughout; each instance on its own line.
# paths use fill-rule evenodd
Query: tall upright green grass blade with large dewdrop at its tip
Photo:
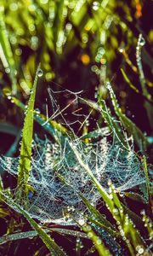
M 24 127 L 22 131 L 21 147 L 20 147 L 20 161 L 19 161 L 19 172 L 17 180 L 17 190 L 16 197 L 19 199 L 24 199 L 28 194 L 28 189 L 26 188 L 29 173 L 31 171 L 31 143 L 33 136 L 33 111 L 34 103 L 36 97 L 38 72 L 40 70 L 40 65 L 37 67 L 37 73 L 35 76 L 33 88 L 31 89 L 31 96 L 27 106 L 26 118 L 24 121 Z

